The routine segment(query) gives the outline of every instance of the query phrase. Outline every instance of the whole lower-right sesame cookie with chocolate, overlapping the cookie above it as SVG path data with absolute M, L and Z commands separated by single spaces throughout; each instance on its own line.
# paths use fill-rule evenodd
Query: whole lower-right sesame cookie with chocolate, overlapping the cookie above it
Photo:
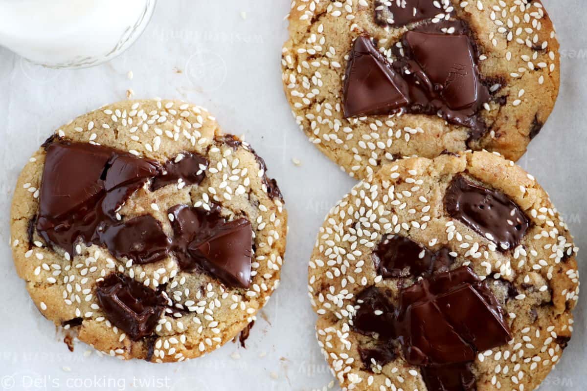
M 319 230 L 318 343 L 345 390 L 533 390 L 571 338 L 577 251 L 513 162 L 400 159 Z

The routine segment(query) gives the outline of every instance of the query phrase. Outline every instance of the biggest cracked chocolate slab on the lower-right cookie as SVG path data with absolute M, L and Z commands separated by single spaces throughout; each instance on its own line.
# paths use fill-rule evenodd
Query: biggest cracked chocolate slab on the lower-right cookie
M 476 352 L 512 338 L 495 296 L 468 267 L 426 278 L 401 294 L 397 329 L 406 361 L 414 365 L 473 361 Z

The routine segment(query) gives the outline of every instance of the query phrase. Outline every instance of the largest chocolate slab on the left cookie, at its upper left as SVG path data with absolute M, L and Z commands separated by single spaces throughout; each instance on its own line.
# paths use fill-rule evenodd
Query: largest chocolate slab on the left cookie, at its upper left
M 157 173 L 156 162 L 113 148 L 53 142 L 47 147 L 36 229 L 47 243 L 72 255 L 79 240 L 102 244 L 99 233 L 119 224 L 116 210 Z

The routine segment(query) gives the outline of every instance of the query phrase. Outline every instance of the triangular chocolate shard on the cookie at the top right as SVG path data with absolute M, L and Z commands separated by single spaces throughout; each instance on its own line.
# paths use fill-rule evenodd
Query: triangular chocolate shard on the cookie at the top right
M 406 82 L 369 38 L 357 38 L 350 52 L 343 101 L 345 118 L 390 113 L 409 103 Z

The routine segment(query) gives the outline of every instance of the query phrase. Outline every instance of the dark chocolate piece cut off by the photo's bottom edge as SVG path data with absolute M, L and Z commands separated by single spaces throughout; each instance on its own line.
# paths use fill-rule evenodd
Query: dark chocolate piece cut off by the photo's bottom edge
M 471 363 L 425 366 L 422 378 L 430 391 L 477 391 Z

